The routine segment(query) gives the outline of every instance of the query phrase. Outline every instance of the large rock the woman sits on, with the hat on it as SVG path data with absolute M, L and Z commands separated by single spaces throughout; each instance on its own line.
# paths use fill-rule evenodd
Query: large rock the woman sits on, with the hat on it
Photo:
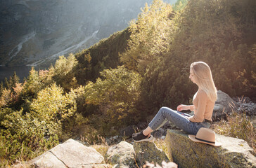
M 216 134 L 222 146 L 215 147 L 196 143 L 188 134 L 179 130 L 168 130 L 165 142 L 168 155 L 179 167 L 256 167 L 252 148 L 242 139 Z

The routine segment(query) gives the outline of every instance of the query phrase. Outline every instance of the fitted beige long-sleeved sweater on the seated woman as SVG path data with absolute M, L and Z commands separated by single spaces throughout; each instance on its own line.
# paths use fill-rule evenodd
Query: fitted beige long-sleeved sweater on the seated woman
M 208 97 L 205 91 L 198 90 L 193 96 L 193 108 L 191 111 L 194 111 L 194 115 L 188 119 L 191 122 L 203 122 L 204 119 L 212 120 L 212 112 L 215 106 L 215 102 L 212 102 Z

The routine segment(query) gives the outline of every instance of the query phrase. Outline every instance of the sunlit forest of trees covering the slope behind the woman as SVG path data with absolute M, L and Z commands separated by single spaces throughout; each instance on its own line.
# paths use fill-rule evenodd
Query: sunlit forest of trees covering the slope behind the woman
M 209 64 L 217 90 L 255 99 L 255 9 L 255 0 L 154 0 L 127 29 L 23 81 L 14 73 L 0 85 L 0 167 L 191 104 L 192 62 Z

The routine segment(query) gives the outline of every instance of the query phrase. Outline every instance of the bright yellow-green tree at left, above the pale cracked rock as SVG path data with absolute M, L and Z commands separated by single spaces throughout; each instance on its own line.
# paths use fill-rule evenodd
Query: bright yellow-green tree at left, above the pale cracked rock
M 75 97 L 64 94 L 63 88 L 51 84 L 37 94 L 30 104 L 30 114 L 40 122 L 45 123 L 47 134 L 61 133 L 61 122 L 76 111 Z

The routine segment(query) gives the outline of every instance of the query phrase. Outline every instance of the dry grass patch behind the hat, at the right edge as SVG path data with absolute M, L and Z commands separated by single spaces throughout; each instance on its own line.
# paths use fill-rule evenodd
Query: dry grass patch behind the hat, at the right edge
M 244 113 L 233 111 L 230 116 L 226 116 L 227 120 L 220 120 L 212 125 L 213 130 L 217 134 L 229 137 L 243 139 L 248 142 L 256 154 L 256 129 L 252 123 L 252 118 Z

